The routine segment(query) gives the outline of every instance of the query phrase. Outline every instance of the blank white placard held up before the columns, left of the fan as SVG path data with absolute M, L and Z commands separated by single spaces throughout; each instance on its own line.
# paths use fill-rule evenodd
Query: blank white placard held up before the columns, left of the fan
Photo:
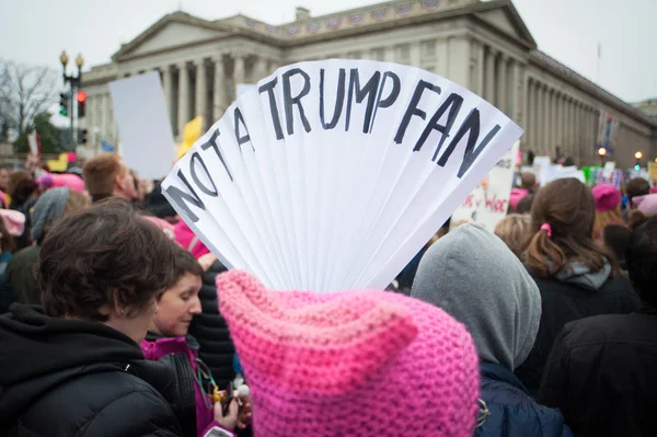
M 114 117 L 118 125 L 119 154 L 143 179 L 161 179 L 175 160 L 175 146 L 160 74 L 110 82 Z

